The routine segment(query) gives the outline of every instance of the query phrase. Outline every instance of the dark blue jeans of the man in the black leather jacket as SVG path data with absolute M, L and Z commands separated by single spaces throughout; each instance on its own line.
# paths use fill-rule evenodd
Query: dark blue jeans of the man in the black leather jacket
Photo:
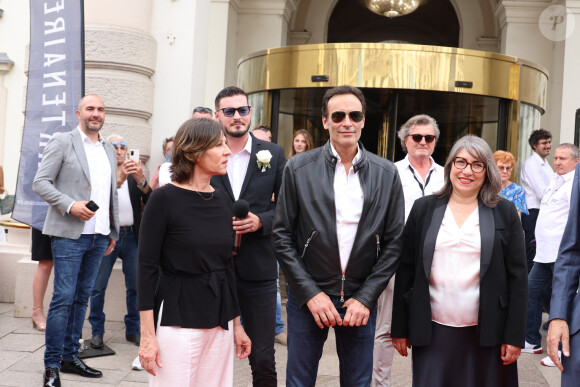
M 330 296 L 341 318 L 340 297 Z M 288 363 L 286 364 L 287 387 L 309 387 L 316 384 L 318 362 L 328 337 L 328 327 L 320 329 L 305 305 L 298 307 L 288 289 Z M 373 346 L 375 343 L 376 307 L 371 311 L 367 325 L 360 327 L 335 326 L 336 352 L 340 362 L 340 385 L 370 386 L 373 373 Z

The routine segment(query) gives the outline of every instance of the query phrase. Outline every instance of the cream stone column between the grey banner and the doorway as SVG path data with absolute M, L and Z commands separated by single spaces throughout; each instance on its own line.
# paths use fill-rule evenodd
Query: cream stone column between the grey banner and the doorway
M 107 109 L 103 136 L 123 136 L 149 159 L 156 43 L 151 36 L 153 0 L 85 2 L 85 92 Z

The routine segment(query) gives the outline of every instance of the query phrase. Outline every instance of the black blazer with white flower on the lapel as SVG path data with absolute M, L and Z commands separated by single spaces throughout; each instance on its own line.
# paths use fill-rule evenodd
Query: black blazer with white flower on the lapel
M 270 244 L 276 209 L 275 204 L 272 203 L 272 194 L 278 197 L 286 157 L 281 146 L 258 140 L 251 133 L 250 136 L 252 136 L 252 152 L 239 198 L 250 203 L 250 212 L 260 217 L 262 228 L 242 235 L 236 268 L 243 280 L 264 281 L 278 278 L 276 258 Z M 258 168 L 256 158 L 256 153 L 261 150 L 269 150 L 272 154 L 271 167 L 264 172 Z M 226 191 L 234 203 L 234 193 L 227 174 L 212 177 L 211 185 Z

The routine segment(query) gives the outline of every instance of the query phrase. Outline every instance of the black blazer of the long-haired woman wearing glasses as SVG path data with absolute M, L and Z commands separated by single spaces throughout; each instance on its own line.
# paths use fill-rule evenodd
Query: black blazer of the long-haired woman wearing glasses
M 403 257 L 395 280 L 392 337 L 412 346 L 431 343 L 429 277 L 448 198 L 418 199 L 405 225 Z M 481 268 L 478 335 L 481 346 L 524 346 L 528 271 L 522 225 L 513 203 L 480 201 Z

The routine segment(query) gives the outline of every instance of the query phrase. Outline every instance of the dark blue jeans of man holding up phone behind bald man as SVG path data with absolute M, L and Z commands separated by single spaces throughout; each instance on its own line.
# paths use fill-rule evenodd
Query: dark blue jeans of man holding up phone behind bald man
M 125 301 L 127 303 L 127 314 L 125 315 L 125 333 L 136 335 L 139 330 L 139 310 L 137 309 L 137 240 L 133 234 L 133 226 L 121 227 L 119 240 L 113 252 L 105 257 L 101 262 L 99 274 L 91 294 L 91 311 L 89 321 L 92 326 L 93 335 L 105 333 L 105 292 L 109 283 L 109 277 L 113 270 L 113 265 L 117 257 L 123 261 L 123 274 L 125 275 Z

